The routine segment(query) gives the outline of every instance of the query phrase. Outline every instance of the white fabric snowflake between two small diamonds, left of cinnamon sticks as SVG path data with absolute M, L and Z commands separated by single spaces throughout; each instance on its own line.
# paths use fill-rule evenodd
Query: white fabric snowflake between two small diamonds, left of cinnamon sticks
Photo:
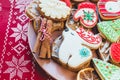
M 28 28 L 28 23 L 26 23 L 24 26 L 18 23 L 16 28 L 11 28 L 14 31 L 14 33 L 10 35 L 10 37 L 14 37 L 15 42 L 17 42 L 20 39 L 23 39 L 24 41 L 26 41 L 27 40 L 27 28 Z

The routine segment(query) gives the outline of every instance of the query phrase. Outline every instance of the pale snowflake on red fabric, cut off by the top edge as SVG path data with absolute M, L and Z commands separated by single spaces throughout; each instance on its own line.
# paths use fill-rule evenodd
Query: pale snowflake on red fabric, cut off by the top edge
M 16 0 L 16 9 L 19 9 L 19 12 L 23 12 L 26 9 L 26 6 L 30 4 L 32 0 Z

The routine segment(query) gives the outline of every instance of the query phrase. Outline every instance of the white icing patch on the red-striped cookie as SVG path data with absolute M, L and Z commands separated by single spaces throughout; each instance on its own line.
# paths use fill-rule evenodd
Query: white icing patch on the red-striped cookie
M 106 9 L 108 12 L 112 12 L 112 13 L 120 12 L 120 2 L 108 1 L 108 2 L 105 4 L 105 9 Z

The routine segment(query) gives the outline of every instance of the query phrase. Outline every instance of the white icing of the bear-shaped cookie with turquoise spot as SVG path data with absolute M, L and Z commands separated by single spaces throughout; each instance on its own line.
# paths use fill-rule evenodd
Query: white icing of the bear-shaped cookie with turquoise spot
M 80 37 L 76 31 L 68 28 L 63 31 L 62 35 L 64 39 L 58 53 L 61 62 L 76 69 L 82 63 L 91 60 L 91 50 L 81 45 Z

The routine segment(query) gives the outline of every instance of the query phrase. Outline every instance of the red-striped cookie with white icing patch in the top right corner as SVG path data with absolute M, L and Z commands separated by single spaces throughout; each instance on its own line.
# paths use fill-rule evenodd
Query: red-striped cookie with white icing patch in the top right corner
M 120 1 L 99 0 L 98 9 L 105 19 L 115 19 L 120 17 Z

